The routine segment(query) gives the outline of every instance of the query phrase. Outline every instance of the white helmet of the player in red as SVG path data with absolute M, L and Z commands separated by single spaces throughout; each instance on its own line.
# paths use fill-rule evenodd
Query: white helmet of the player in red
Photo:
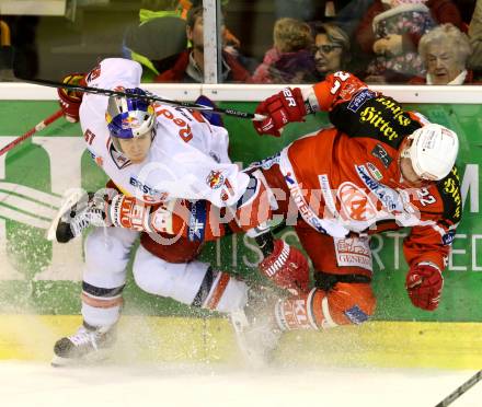
M 423 179 L 445 178 L 456 163 L 459 151 L 457 133 L 448 128 L 429 124 L 415 130 L 402 156 L 412 161 L 413 170 Z

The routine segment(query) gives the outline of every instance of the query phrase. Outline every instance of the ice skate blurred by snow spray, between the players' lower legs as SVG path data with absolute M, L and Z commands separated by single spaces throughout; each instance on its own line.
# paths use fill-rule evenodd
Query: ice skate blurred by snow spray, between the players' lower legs
M 280 299 L 269 289 L 250 293 L 243 310 L 230 314 L 236 338 L 246 363 L 253 368 L 266 367 L 273 359 L 282 330 L 275 319 L 275 304 Z

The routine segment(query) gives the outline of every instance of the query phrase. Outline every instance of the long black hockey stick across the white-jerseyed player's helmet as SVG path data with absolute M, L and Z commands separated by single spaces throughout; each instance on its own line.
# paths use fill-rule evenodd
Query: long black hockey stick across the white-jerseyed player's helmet
M 200 105 L 198 103 L 171 101 L 169 98 L 159 97 L 153 94 L 133 96 L 133 94 L 122 92 L 122 91 L 113 91 L 110 89 L 101 89 L 101 88 L 93 88 L 93 86 L 82 86 L 79 84 L 71 84 L 71 83 L 61 83 L 61 82 L 56 82 L 56 81 L 49 81 L 46 79 L 24 79 L 24 78 L 18 78 L 18 79 L 23 82 L 33 83 L 33 84 L 37 84 L 37 85 L 42 85 L 42 86 L 64 88 L 64 89 L 68 89 L 70 91 L 92 93 L 92 94 L 106 95 L 106 96 L 124 96 L 124 97 L 130 97 L 130 98 L 135 97 L 135 98 L 140 98 L 144 101 L 160 102 L 160 103 L 164 103 L 164 104 L 171 105 L 171 106 L 179 106 L 179 107 L 191 108 L 191 109 L 195 109 L 195 111 L 207 111 L 207 112 L 213 112 L 213 113 L 221 113 L 223 115 L 234 116 L 234 117 L 239 117 L 239 118 L 246 118 L 246 119 L 252 119 L 252 120 L 264 120 L 265 119 L 265 116 L 259 115 L 259 114 L 241 112 L 241 111 L 237 111 L 233 108 L 210 107 L 210 106 Z

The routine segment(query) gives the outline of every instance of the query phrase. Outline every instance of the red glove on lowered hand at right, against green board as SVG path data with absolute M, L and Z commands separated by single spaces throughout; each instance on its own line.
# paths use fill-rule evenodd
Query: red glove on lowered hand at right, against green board
M 435 266 L 415 265 L 406 275 L 405 288 L 413 305 L 434 311 L 440 301 L 444 278 Z

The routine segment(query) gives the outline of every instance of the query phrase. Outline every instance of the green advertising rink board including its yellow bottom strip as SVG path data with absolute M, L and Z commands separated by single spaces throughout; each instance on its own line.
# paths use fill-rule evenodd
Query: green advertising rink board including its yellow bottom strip
M 223 104 L 227 106 L 248 112 L 254 109 L 253 103 Z M 0 146 L 57 108 L 51 101 L 0 100 Z M 330 333 L 288 335 L 284 339 L 286 346 L 279 349 L 283 359 L 289 360 L 286 358 L 289 354 L 299 362 L 344 363 L 343 357 L 347 356 L 347 362 L 355 364 L 380 365 L 387 361 L 393 365 L 421 363 L 418 365 L 450 369 L 475 369 L 482 364 L 477 352 L 481 349 L 477 338 L 481 337 L 478 322 L 482 322 L 482 221 L 479 216 L 482 107 L 424 104 L 417 109 L 431 120 L 454 128 L 461 138 L 458 164 L 464 199 L 463 220 L 445 274 L 439 309 L 427 313 L 413 307 L 408 299 L 403 288 L 406 272 L 402 255 L 404 232 L 376 236 L 372 240 L 374 290 L 378 299 L 375 321 L 366 326 Z M 246 165 L 276 153 L 300 135 L 328 125 L 328 118 L 319 114 L 303 124 L 290 125 L 279 139 L 259 137 L 249 120 L 225 117 L 225 123 L 231 135 L 233 161 Z M 95 190 L 105 183 L 105 175 L 83 148 L 80 127 L 59 119 L 0 156 L 0 359 L 47 360 L 58 336 L 71 333 L 79 323 L 82 242 L 53 245 L 45 240 L 45 231 L 67 188 L 81 186 Z M 279 236 L 298 244 L 290 230 Z M 260 259 L 259 253 L 245 236 L 208 244 L 200 259 L 245 278 L 260 278 L 252 271 Z M 156 360 L 216 361 L 230 360 L 237 354 L 226 321 L 207 318 L 205 312 L 141 292 L 130 274 L 124 299 L 123 324 L 139 321 L 142 329 L 160 334 L 153 339 L 154 347 L 149 347 L 156 349 Z M 41 316 L 10 316 L 19 314 Z M 134 329 L 126 329 L 119 339 L 124 341 L 130 332 Z M 183 341 L 163 341 L 165 333 L 183 333 Z M 136 335 L 136 338 L 141 336 Z M 158 346 L 160 344 L 162 347 Z M 291 352 L 291 349 L 297 351 Z M 298 351 L 300 349 L 302 351 Z M 324 351 L 328 349 L 332 351 Z M 425 353 L 431 356 L 426 358 Z M 326 359 L 332 356 L 337 359 Z M 149 358 L 152 358 L 150 353 L 146 360 Z

